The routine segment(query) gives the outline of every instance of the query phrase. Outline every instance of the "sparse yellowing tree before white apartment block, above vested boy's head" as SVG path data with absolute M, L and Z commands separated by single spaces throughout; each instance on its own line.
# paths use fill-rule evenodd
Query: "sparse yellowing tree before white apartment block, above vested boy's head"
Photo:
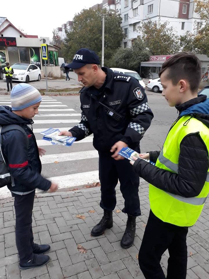
M 169 22 L 148 20 L 138 27 L 139 36 L 152 55 L 174 54 L 180 50 L 179 36 Z

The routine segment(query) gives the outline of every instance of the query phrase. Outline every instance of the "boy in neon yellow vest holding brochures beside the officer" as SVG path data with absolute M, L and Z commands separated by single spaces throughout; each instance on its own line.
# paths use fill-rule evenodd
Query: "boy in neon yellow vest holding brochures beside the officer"
M 149 182 L 150 213 L 138 261 L 145 278 L 185 279 L 186 236 L 201 214 L 209 192 L 209 99 L 198 95 L 201 62 L 181 52 L 164 62 L 159 72 L 162 95 L 179 117 L 161 151 L 140 154 L 155 166 L 135 158 L 133 168 Z M 168 249 L 167 277 L 161 256 Z

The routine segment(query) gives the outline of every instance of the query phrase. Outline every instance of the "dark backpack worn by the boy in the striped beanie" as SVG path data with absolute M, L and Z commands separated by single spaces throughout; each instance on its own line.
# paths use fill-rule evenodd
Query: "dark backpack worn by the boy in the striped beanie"
M 8 167 L 7 167 L 7 164 L 3 157 L 3 152 L 2 152 L 2 134 L 6 133 L 8 131 L 11 131 L 11 130 L 18 130 L 18 131 L 22 132 L 27 138 L 27 149 L 29 146 L 28 136 L 21 126 L 16 125 L 16 124 L 0 126 L 0 188 L 6 186 L 8 184 L 12 184 L 12 186 L 15 186 L 14 178 L 11 176 L 11 174 L 8 170 Z

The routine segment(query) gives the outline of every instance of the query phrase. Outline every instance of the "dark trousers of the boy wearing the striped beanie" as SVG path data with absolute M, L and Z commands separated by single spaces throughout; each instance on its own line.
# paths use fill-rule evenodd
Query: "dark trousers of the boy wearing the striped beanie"
M 35 191 L 22 196 L 12 193 L 12 196 L 15 197 L 15 238 L 19 262 L 26 263 L 33 258 L 32 210 Z

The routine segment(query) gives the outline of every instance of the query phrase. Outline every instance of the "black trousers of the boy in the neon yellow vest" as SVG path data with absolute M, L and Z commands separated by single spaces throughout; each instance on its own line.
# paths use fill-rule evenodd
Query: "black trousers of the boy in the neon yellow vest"
M 186 236 L 188 227 L 179 227 L 158 219 L 150 210 L 138 261 L 146 279 L 185 279 L 187 272 Z M 168 249 L 167 277 L 160 265 Z

